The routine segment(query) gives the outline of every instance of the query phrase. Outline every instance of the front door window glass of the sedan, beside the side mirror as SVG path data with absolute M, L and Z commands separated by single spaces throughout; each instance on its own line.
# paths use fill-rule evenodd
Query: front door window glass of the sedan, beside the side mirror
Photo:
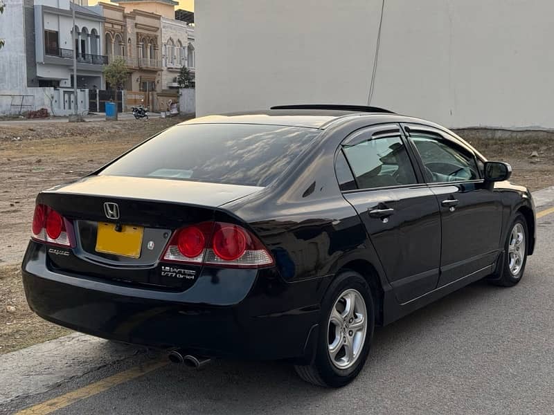
M 444 183 L 479 179 L 479 169 L 473 154 L 435 136 L 412 135 L 425 167 L 429 183 Z

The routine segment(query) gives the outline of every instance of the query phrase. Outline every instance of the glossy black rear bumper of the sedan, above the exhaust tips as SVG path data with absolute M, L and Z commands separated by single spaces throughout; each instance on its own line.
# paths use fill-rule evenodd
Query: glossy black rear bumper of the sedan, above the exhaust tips
M 28 304 L 46 320 L 101 338 L 210 357 L 311 358 L 325 284 L 289 284 L 258 273 L 237 304 L 181 302 L 179 294 L 65 275 L 48 267 L 46 248 L 31 242 L 23 263 Z M 220 289 L 215 286 L 213 289 Z M 302 304 L 298 304 L 299 299 Z M 312 305 L 306 305 L 312 304 Z

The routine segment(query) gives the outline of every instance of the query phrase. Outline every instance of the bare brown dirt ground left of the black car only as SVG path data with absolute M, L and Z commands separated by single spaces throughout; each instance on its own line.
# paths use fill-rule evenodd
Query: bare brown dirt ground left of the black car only
M 30 311 L 23 292 L 19 264 L 37 193 L 84 176 L 182 120 L 0 124 L 0 354 L 70 333 Z

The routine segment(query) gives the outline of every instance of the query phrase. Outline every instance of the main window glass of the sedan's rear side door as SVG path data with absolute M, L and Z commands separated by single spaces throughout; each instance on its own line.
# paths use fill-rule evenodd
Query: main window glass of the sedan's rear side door
M 343 151 L 360 189 L 417 183 L 400 136 L 373 138 Z

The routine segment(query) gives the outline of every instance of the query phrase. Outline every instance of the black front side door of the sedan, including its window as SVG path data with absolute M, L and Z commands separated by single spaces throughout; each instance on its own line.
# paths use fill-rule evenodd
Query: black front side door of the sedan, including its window
M 486 275 L 499 253 L 500 196 L 485 185 L 478 159 L 445 131 L 403 125 L 429 188 L 440 205 L 443 243 L 438 286 Z

